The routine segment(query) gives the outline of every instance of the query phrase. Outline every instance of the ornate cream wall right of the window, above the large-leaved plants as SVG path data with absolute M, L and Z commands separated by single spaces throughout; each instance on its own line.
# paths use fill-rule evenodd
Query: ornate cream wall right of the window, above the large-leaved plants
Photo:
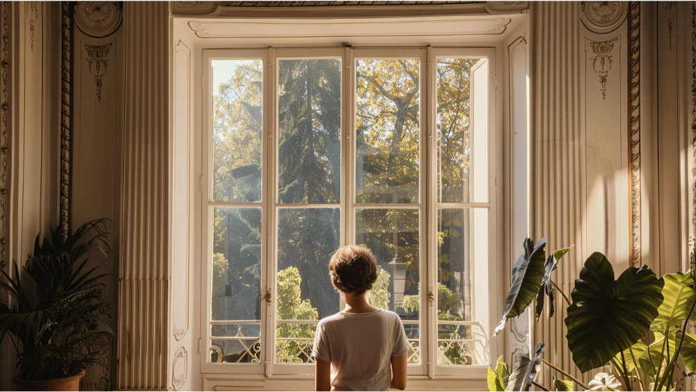
M 574 245 L 555 273 L 567 295 L 594 251 L 617 274 L 642 264 L 658 275 L 688 269 L 693 6 L 532 2 L 530 233 L 548 237 L 548 251 Z M 532 342 L 575 369 L 566 305 L 555 305 L 555 317 L 547 306 L 533 325 Z

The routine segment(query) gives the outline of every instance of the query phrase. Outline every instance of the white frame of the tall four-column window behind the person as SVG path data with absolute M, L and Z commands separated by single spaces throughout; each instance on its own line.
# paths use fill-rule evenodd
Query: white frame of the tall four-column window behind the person
M 277 69 L 279 58 L 341 58 L 342 70 L 342 135 L 341 135 L 341 230 L 340 244 L 354 242 L 355 235 L 355 68 L 356 60 L 360 58 L 418 58 L 420 59 L 420 198 L 418 204 L 403 205 L 404 207 L 416 207 L 420 210 L 420 364 L 409 365 L 409 379 L 440 378 L 450 377 L 481 379 L 485 377 L 487 363 L 481 365 L 468 366 L 443 366 L 436 362 L 437 340 L 437 307 L 428 306 L 427 292 L 432 290 L 434 296 L 437 295 L 437 246 L 434 246 L 434 235 L 437 229 L 438 205 L 436 203 L 436 135 L 435 130 L 435 111 L 436 111 L 436 58 L 487 58 L 489 84 L 489 125 L 488 125 L 488 147 L 489 147 L 489 201 L 487 203 L 445 203 L 447 206 L 455 207 L 484 207 L 489 211 L 489 265 L 488 265 L 488 287 L 489 287 L 489 314 L 487 323 L 488 332 L 488 352 L 486 359 L 493 361 L 495 347 L 491 344 L 490 336 L 496 326 L 497 317 L 502 311 L 501 304 L 498 304 L 498 295 L 492 295 L 499 287 L 499 277 L 502 269 L 499 268 L 498 246 L 503 244 L 503 238 L 499 237 L 498 230 L 498 204 L 502 187 L 496 187 L 496 173 L 501 162 L 502 151 L 499 151 L 498 138 L 500 137 L 500 126 L 498 116 L 499 93 L 496 88 L 496 48 L 495 47 L 324 47 L 324 48 L 281 48 L 264 47 L 259 49 L 203 49 L 202 54 L 203 70 L 203 102 L 202 102 L 202 157 L 203 176 L 201 186 L 203 197 L 200 202 L 201 214 L 201 306 L 200 306 L 200 327 L 201 327 L 201 353 L 200 371 L 203 374 L 229 373 L 237 375 L 248 375 L 250 377 L 270 377 L 274 375 L 283 377 L 285 375 L 308 375 L 313 378 L 315 366 L 313 363 L 300 365 L 274 363 L 275 357 L 275 330 L 276 315 L 276 238 L 277 238 L 277 214 L 278 209 L 277 189 L 278 189 L 278 123 L 277 123 Z M 212 202 L 212 60 L 248 60 L 260 59 L 263 62 L 262 77 L 262 201 L 261 203 L 237 203 L 237 202 Z M 427 82 L 424 82 L 427 81 Z M 269 186 L 271 185 L 271 186 Z M 430 186 L 429 186 L 430 185 Z M 349 191 L 350 190 L 350 191 Z M 432 202 L 431 202 L 432 201 Z M 271 292 L 271 306 L 264 306 L 262 301 L 261 320 L 265 325 L 261 327 L 262 352 L 261 363 L 209 363 L 207 347 L 210 341 L 211 316 L 211 294 L 212 294 L 212 225 L 209 218 L 212 216 L 211 207 L 230 206 L 230 207 L 261 207 L 262 208 L 262 266 L 261 266 L 261 295 L 266 290 Z M 284 207 L 329 207 L 331 205 L 284 205 Z M 402 205 L 370 205 L 375 207 L 402 207 Z M 502 210 L 501 210 L 502 211 Z M 424 231 L 425 230 L 425 231 Z M 428 238 L 426 240 L 425 233 Z M 265 241 L 265 243 L 263 242 Z M 432 242 L 432 244 L 431 244 Z M 265 287 L 264 287 L 265 286 Z M 472 290 L 473 294 L 473 290 Z M 338 295 L 338 294 L 337 294 Z M 435 298 L 435 304 L 437 299 Z M 341 308 L 344 304 L 341 301 Z M 272 338 L 271 338 L 272 337 Z M 269 340 L 270 339 L 270 340 Z M 415 377 L 415 378 L 413 378 Z

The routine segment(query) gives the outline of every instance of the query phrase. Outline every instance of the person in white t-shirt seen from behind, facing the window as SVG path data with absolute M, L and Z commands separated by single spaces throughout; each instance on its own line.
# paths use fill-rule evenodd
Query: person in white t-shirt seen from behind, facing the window
M 406 389 L 406 333 L 400 317 L 367 300 L 377 281 L 377 262 L 365 246 L 337 249 L 329 262 L 342 312 L 317 324 L 312 357 L 317 392 L 385 392 Z

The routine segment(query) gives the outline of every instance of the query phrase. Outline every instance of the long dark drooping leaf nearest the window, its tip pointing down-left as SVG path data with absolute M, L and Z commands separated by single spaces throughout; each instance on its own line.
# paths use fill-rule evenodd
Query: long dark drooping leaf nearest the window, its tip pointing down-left
M 512 285 L 505 300 L 503 320 L 496 327 L 493 336 L 503 331 L 508 319 L 521 315 L 539 292 L 541 279 L 544 278 L 544 260 L 546 259 L 544 246 L 546 246 L 546 237 L 541 238 L 536 245 L 529 238 L 525 240 L 524 256 L 520 256 L 512 267 Z

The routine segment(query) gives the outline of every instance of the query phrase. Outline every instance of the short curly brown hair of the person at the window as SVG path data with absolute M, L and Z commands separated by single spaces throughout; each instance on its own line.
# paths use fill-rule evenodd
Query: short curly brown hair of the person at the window
M 377 262 L 364 245 L 342 246 L 331 256 L 329 275 L 336 290 L 361 295 L 377 281 Z

